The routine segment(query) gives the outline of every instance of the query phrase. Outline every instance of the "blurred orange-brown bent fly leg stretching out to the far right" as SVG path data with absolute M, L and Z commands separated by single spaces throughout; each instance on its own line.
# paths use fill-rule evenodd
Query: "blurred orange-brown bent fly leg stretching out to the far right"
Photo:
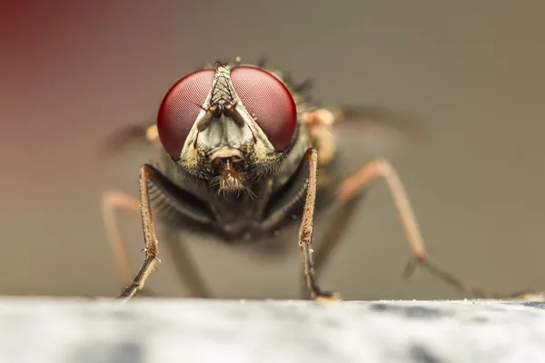
M 496 293 L 488 293 L 482 289 L 472 288 L 461 280 L 455 278 L 450 272 L 443 270 L 437 263 L 433 262 L 428 256 L 424 241 L 421 236 L 421 231 L 412 211 L 411 202 L 407 192 L 405 191 L 401 180 L 391 166 L 390 162 L 385 159 L 375 159 L 362 166 L 362 168 L 346 178 L 339 187 L 337 198 L 340 201 L 342 208 L 338 214 L 337 220 L 333 223 L 333 230 L 326 234 L 326 240 L 322 243 L 321 249 L 316 251 L 315 267 L 319 269 L 323 263 L 331 255 L 331 251 L 340 241 L 342 232 L 346 229 L 348 220 L 353 214 L 356 206 L 355 198 L 367 188 L 376 179 L 384 179 L 389 187 L 391 198 L 395 204 L 396 210 L 400 217 L 405 237 L 409 242 L 411 253 L 414 256 L 414 262 L 410 267 L 420 265 L 431 274 L 451 285 L 453 288 L 460 290 L 472 297 L 484 299 L 531 299 L 542 300 L 545 298 L 543 294 L 533 291 L 521 291 L 515 294 L 501 295 Z M 340 226 L 340 227 L 336 227 Z

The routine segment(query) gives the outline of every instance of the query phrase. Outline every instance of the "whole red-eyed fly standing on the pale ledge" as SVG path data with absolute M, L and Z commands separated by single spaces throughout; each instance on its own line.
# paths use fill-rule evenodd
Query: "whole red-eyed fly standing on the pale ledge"
M 260 246 L 268 255 L 282 255 L 297 243 L 305 298 L 339 299 L 323 290 L 316 276 L 342 240 L 364 191 L 379 179 L 386 182 L 400 217 L 414 257 L 411 267 L 424 267 L 473 296 L 499 297 L 466 287 L 425 250 L 407 192 L 381 156 L 381 140 L 370 132 L 404 137 L 414 131 L 413 120 L 381 107 L 322 107 L 309 88 L 310 82 L 295 83 L 264 62 L 216 62 L 174 83 L 156 121 L 114 133 L 109 142 L 114 151 L 137 141 L 161 154 L 157 164 L 141 167 L 139 198 L 124 191 L 104 193 L 104 225 L 126 284 L 119 298 L 130 299 L 144 289 L 160 261 L 160 246 L 175 256 L 190 295 L 211 298 L 184 244 L 198 236 Z M 370 158 L 364 162 L 366 152 Z M 313 241 L 314 216 L 330 209 L 332 221 Z M 145 258 L 135 276 L 117 211 L 141 214 Z M 157 222 L 167 231 L 161 243 Z M 524 299 L 520 294 L 511 298 Z

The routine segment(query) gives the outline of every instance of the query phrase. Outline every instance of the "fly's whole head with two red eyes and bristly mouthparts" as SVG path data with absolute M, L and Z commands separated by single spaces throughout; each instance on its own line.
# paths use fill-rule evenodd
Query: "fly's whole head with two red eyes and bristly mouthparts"
M 290 152 L 297 117 L 280 79 L 257 67 L 218 63 L 173 85 L 159 109 L 157 130 L 183 172 L 223 193 L 251 191 Z

